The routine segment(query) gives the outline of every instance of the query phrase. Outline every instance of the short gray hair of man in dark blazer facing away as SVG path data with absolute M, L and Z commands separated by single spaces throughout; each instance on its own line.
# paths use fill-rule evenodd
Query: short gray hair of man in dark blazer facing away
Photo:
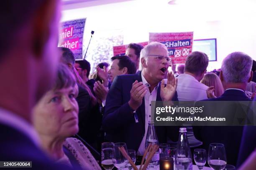
M 221 71 L 225 82 L 247 82 L 253 60 L 243 52 L 232 52 L 224 58 Z

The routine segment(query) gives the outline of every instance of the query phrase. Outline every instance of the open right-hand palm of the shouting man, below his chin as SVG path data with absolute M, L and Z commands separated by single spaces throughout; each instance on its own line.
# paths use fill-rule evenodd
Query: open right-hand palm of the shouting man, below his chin
M 172 97 L 174 96 L 176 92 L 178 84 L 178 79 L 175 79 L 172 72 L 167 73 L 167 84 L 166 87 L 164 87 L 164 80 L 161 81 L 161 92 L 160 96 L 162 101 L 171 101 Z

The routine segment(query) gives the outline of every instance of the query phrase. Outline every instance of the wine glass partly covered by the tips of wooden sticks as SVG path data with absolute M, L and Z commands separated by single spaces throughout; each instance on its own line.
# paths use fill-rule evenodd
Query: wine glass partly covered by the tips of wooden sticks
M 122 153 L 119 150 L 119 148 L 122 147 L 122 146 L 123 146 L 123 148 L 125 149 L 125 151 L 127 153 L 126 143 L 115 143 L 114 144 L 114 156 L 113 156 L 113 159 L 112 159 L 113 164 L 119 170 L 122 170 L 128 164 L 128 160 L 122 155 Z

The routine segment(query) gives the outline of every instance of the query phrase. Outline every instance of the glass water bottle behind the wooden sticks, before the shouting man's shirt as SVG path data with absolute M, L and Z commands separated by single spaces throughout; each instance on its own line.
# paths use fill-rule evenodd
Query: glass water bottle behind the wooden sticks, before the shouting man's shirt
M 148 148 L 148 145 L 159 145 L 159 141 L 156 136 L 156 130 L 154 127 L 154 121 L 148 121 L 148 131 L 146 136 L 145 148 Z M 148 155 L 146 155 L 147 158 Z M 155 155 L 152 157 L 151 162 L 148 164 L 148 169 L 157 169 L 159 168 L 159 150 L 156 151 Z

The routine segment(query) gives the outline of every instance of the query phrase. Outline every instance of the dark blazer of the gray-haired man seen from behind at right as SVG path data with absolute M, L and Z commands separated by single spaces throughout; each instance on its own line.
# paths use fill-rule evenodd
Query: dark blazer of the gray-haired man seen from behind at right
M 246 97 L 244 92 L 240 90 L 225 90 L 223 95 L 220 97 L 202 101 L 251 100 Z M 228 164 L 236 166 L 243 133 L 243 126 L 194 126 L 193 130 L 195 137 L 203 142 L 201 147 L 206 150 L 208 150 L 210 143 L 223 143 L 226 150 Z

